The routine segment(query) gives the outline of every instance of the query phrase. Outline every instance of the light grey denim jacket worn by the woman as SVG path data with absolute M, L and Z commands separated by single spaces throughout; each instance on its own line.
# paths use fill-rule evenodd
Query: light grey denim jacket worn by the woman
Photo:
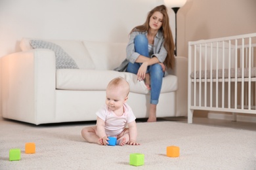
M 127 65 L 129 62 L 135 63 L 136 59 L 140 56 L 139 53 L 135 52 L 135 46 L 134 46 L 134 39 L 137 35 L 140 33 L 147 35 L 148 32 L 139 32 L 139 31 L 133 31 L 130 34 L 130 39 L 126 47 L 126 59 L 121 63 L 119 67 L 117 67 L 116 71 L 126 71 Z M 158 31 L 156 34 L 156 37 L 154 38 L 154 54 L 151 56 L 156 56 L 158 60 L 163 63 L 165 61 L 165 58 L 167 56 L 167 51 L 165 50 L 163 46 L 163 33 L 161 31 Z

